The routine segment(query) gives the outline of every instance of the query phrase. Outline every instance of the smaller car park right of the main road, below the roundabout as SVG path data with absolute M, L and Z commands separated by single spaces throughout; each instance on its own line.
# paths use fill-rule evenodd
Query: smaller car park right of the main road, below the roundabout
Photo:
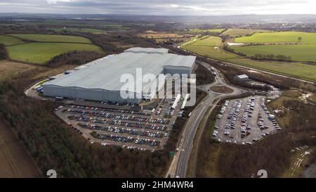
M 220 142 L 255 143 L 281 130 L 268 108 L 264 96 L 226 100 L 216 115 L 213 139 Z

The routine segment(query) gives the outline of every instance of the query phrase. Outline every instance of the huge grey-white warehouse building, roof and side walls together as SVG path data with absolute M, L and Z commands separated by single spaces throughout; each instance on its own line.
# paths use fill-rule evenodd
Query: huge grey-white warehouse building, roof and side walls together
M 136 78 L 136 69 L 142 74 L 156 77 L 157 87 L 163 87 L 165 80 L 158 78 L 161 74 L 192 73 L 195 56 L 178 56 L 168 53 L 168 49 L 131 48 L 118 55 L 106 56 L 82 65 L 66 75 L 43 84 L 44 96 L 62 96 L 65 98 L 83 98 L 93 101 L 113 101 L 118 103 L 140 103 L 150 100 L 155 91 L 150 91 L 152 82 L 142 82 L 142 90 L 128 91 L 136 98 L 122 98 L 121 75 L 129 74 Z M 126 92 L 126 91 L 124 91 Z

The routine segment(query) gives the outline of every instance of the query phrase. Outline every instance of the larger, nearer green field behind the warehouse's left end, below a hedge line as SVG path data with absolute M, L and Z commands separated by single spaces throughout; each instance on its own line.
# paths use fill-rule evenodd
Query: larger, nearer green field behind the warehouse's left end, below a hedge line
M 27 63 L 46 63 L 53 57 L 68 51 L 99 51 L 100 47 L 93 44 L 72 43 L 29 43 L 7 46 L 8 55 L 12 60 Z

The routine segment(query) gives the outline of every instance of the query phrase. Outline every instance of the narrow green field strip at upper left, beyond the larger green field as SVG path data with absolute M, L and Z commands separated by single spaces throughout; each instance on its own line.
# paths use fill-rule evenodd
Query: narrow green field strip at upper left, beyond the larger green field
M 31 41 L 40 42 L 67 42 L 67 43 L 81 43 L 92 44 L 90 39 L 78 36 L 69 35 L 55 35 L 55 34 L 10 34 L 13 37 L 19 37 L 21 39 L 28 39 Z

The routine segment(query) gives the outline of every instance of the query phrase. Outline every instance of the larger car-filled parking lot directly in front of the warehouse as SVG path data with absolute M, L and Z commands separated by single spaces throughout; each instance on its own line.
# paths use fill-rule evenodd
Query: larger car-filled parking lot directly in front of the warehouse
M 122 110 L 86 105 L 60 105 L 55 114 L 91 143 L 121 146 L 140 151 L 160 150 L 168 143 L 177 117 L 181 117 L 183 98 L 159 99 L 152 111 Z M 174 106 L 174 108 L 172 107 Z

